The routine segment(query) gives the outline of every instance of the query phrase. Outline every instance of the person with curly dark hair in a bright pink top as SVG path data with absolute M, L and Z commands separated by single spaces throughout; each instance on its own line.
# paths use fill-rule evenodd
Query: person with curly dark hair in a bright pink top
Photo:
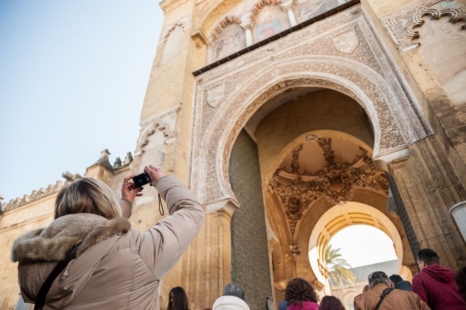
M 318 310 L 319 296 L 305 279 L 291 279 L 285 288 L 288 310 Z

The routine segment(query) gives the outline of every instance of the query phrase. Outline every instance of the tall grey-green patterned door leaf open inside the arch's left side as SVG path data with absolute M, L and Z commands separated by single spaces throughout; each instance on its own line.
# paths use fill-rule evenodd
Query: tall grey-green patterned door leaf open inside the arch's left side
M 244 287 L 252 310 L 265 309 L 272 290 L 259 155 L 245 130 L 233 145 L 230 182 L 240 203 L 232 218 L 232 282 Z

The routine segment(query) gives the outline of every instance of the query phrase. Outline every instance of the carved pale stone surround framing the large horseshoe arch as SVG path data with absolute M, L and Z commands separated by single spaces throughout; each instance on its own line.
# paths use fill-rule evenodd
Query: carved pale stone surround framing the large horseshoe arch
M 345 30 L 353 30 L 359 42 L 350 53 L 332 42 Z M 303 86 L 333 89 L 359 102 L 374 127 L 374 156 L 430 134 L 357 5 L 196 78 L 190 179 L 202 202 L 234 199 L 228 159 L 239 131 L 267 100 Z M 212 104 L 215 89 L 222 92 L 214 92 Z

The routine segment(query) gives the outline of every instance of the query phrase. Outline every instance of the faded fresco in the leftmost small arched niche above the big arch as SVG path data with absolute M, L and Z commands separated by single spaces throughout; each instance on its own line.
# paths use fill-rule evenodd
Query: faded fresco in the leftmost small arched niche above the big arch
M 246 47 L 246 34 L 241 26 L 230 24 L 220 33 L 214 47 L 214 60 L 225 58 Z

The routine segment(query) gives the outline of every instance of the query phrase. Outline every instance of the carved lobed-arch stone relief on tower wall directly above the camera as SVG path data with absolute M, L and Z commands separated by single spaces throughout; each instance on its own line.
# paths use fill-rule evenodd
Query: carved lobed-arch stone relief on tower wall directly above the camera
M 156 130 L 164 133 L 165 143 L 171 143 L 176 138 L 176 115 L 180 109 L 181 105 L 178 105 L 141 122 L 141 131 L 137 143 L 138 153 L 149 143 L 150 136 Z

